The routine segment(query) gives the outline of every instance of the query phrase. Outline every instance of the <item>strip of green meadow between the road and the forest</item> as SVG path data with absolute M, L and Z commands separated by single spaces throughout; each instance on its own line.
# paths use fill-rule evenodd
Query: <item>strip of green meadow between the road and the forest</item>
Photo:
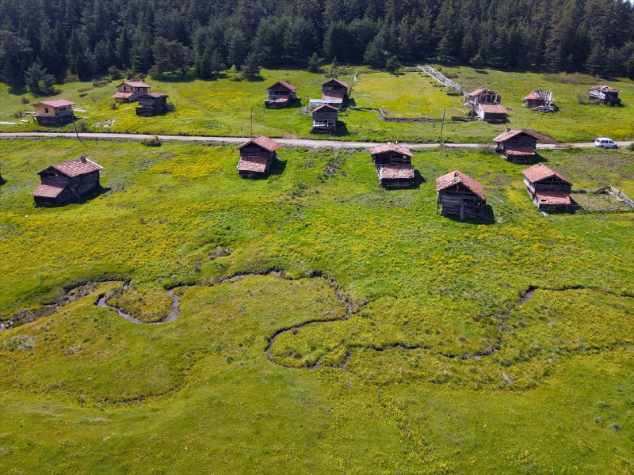
M 441 67 L 441 66 L 436 66 Z M 593 79 L 584 75 L 549 75 L 544 73 L 502 72 L 474 68 L 441 68 L 466 89 L 486 85 L 500 92 L 509 111 L 510 122 L 490 125 L 483 122 L 451 122 L 444 125 L 443 140 L 454 143 L 488 142 L 510 125 L 531 128 L 550 134 L 562 142 L 593 141 L 597 136 L 615 140 L 634 139 L 631 107 L 634 103 L 634 82 L 631 80 Z M 356 68 L 344 68 L 340 79 L 353 84 Z M 385 108 L 395 117 L 432 117 L 440 119 L 443 110 L 447 117 L 463 116 L 462 97 L 448 95 L 449 90 L 422 72 L 389 74 L 358 68 L 359 82 L 354 86 L 350 105 L 358 108 Z M 82 130 L 95 132 L 139 132 L 149 134 L 189 134 L 205 136 L 248 136 L 250 109 L 254 108 L 254 133 L 271 137 L 311 137 L 311 117 L 306 108 L 309 99 L 321 97 L 321 83 L 325 75 L 299 70 L 262 70 L 262 79 L 255 82 L 218 80 L 155 80 L 148 78 L 153 91 L 169 94 L 175 110 L 159 117 L 137 117 L 135 103 L 112 109 L 112 95 L 119 81 L 93 86 L 93 83 L 71 82 L 59 86 L 55 98 L 77 102 L 76 123 Z M 277 80 L 290 80 L 299 87 L 299 103 L 284 110 L 267 110 L 263 101 L 266 88 Z M 609 82 L 621 93 L 622 107 L 581 105 L 578 95 L 587 99 L 590 85 Z M 560 110 L 555 114 L 540 114 L 527 110 L 521 99 L 533 89 L 552 89 Z M 25 91 L 9 91 L 0 85 L 0 131 L 57 130 L 39 127 L 29 115 L 35 103 Z M 23 124 L 19 124 L 25 120 Z M 437 141 L 441 125 L 437 123 L 395 123 L 379 119 L 376 111 L 347 109 L 340 113 L 337 137 L 355 141 Z M 16 125 L 2 125 L 15 122 Z M 65 125 L 61 130 L 74 130 Z M 312 136 L 314 138 L 332 138 Z

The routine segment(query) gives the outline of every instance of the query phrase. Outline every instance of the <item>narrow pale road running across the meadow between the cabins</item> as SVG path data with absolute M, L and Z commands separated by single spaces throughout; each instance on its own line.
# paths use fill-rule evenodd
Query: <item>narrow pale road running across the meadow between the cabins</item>
M 51 137 L 65 137 L 68 139 L 74 139 L 77 137 L 74 132 L 0 132 L 0 139 L 11 138 L 29 138 L 29 139 L 42 139 Z M 80 132 L 79 137 L 82 139 L 101 140 L 101 139 L 126 139 L 126 140 L 142 140 L 148 137 L 152 137 L 151 134 L 106 134 L 102 132 Z M 243 143 L 249 140 L 249 137 L 204 137 L 204 136 L 165 136 L 159 135 L 161 140 L 176 140 L 184 142 L 218 142 L 218 143 Z M 282 145 L 309 147 L 309 148 L 371 148 L 377 143 L 375 142 L 347 142 L 338 140 L 316 140 L 316 139 L 275 139 L 276 142 Z M 632 142 L 619 142 L 619 146 L 625 147 Z M 478 148 L 483 145 L 491 145 L 493 142 L 486 144 L 446 144 L 443 146 L 448 148 Z M 407 148 L 434 148 L 440 146 L 439 143 L 401 143 L 401 145 Z M 566 148 L 566 147 L 578 147 L 578 148 L 590 148 L 594 147 L 594 143 L 571 143 L 571 144 L 538 144 L 537 148 L 541 149 L 553 149 L 553 148 Z

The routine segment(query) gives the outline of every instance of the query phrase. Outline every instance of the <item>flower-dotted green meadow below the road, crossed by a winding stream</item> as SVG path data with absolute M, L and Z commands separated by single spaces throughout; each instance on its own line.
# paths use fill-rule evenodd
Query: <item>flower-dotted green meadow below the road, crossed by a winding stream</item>
M 0 149 L 0 319 L 41 315 L 0 332 L 1 473 L 634 471 L 633 212 L 545 216 L 484 150 L 421 151 L 386 191 L 353 149 L 280 149 L 265 180 L 228 147 Z M 34 206 L 80 154 L 103 191 Z M 634 195 L 631 151 L 543 159 Z M 456 168 L 495 223 L 437 214 Z M 95 305 L 150 322 L 165 289 L 169 324 Z

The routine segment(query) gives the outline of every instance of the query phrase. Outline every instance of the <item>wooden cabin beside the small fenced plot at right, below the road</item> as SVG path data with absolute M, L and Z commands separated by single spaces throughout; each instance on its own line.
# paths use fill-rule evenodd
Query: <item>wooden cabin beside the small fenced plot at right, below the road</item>
M 543 163 L 522 171 L 531 200 L 540 211 L 567 211 L 573 184 Z

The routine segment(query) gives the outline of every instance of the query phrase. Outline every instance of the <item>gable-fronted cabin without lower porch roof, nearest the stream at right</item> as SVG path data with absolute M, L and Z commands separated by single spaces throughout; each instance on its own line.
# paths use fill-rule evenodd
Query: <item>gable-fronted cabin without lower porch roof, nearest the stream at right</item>
M 465 219 L 481 218 L 486 200 L 482 185 L 468 175 L 455 170 L 436 179 L 437 206 L 443 216 Z

